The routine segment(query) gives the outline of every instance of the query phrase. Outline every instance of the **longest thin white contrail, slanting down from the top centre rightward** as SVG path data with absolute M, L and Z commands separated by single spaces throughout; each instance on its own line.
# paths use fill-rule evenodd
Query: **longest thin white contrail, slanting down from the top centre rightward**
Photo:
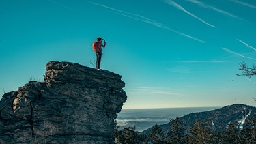
M 115 8 L 111 8 L 109 6 L 102 5 L 102 4 L 99 4 L 99 3 L 94 3 L 94 2 L 90 2 L 90 1 L 86 1 L 86 2 L 87 3 L 91 3 L 93 5 L 98 5 L 98 6 L 102 7 L 102 8 L 107 8 L 109 10 L 113 10 L 113 11 L 117 12 L 117 14 L 122 15 L 122 16 L 126 16 L 127 18 L 131 18 L 133 20 L 139 20 L 139 21 L 141 21 L 143 23 L 148 23 L 150 25 L 154 25 L 156 27 L 160 27 L 162 29 L 166 29 L 168 31 L 172 31 L 172 32 L 177 33 L 178 35 L 182 35 L 182 36 L 184 36 L 186 38 L 190 38 L 190 39 L 196 40 L 198 42 L 205 43 L 205 41 L 203 41 L 203 40 L 195 38 L 195 37 L 193 37 L 191 35 L 187 35 L 187 34 L 182 33 L 180 31 L 175 31 L 174 29 L 171 29 L 170 27 L 167 27 L 166 25 L 164 25 L 162 23 L 158 23 L 158 22 L 156 22 L 156 21 L 154 21 L 154 20 L 152 20 L 150 18 L 146 18 L 145 16 L 141 16 L 139 14 L 134 14 L 134 13 L 131 13 L 131 12 L 124 12 L 122 10 L 117 10 Z

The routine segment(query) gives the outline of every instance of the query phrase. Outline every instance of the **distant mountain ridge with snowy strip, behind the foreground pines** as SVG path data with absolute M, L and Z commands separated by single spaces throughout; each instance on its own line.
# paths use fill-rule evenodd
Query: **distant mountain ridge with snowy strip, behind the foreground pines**
M 193 122 L 195 120 L 199 121 L 212 121 L 212 126 L 214 131 L 220 131 L 223 130 L 223 128 L 226 128 L 227 124 L 229 124 L 231 121 L 238 121 L 240 123 L 240 127 L 242 127 L 242 124 L 246 117 L 248 116 L 255 116 L 256 115 L 256 108 L 253 106 L 248 106 L 245 104 L 233 104 L 229 106 L 224 106 L 219 109 L 215 109 L 212 111 L 204 111 L 199 113 L 190 113 L 188 115 L 184 115 L 183 117 L 180 117 L 182 121 L 184 121 L 184 124 L 186 125 L 186 128 L 189 128 L 192 126 Z M 170 123 L 162 124 L 160 125 L 160 128 L 162 128 L 163 132 L 168 132 Z M 150 133 L 151 128 L 144 130 L 144 134 Z

